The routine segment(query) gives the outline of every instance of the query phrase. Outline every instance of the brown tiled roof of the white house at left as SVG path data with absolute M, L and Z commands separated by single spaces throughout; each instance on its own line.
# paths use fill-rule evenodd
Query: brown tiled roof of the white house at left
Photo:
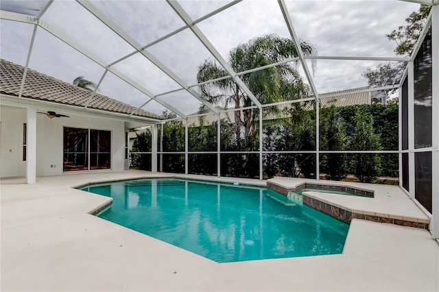
M 0 93 L 5 95 L 19 96 L 21 80 L 23 79 L 24 67 L 18 64 L 0 59 Z M 91 91 L 63 82 L 54 77 L 44 75 L 28 69 L 25 86 L 21 97 L 51 101 L 56 104 L 84 107 L 91 96 Z M 116 99 L 95 93 L 87 108 L 117 112 L 119 114 L 131 114 L 137 108 L 125 104 Z M 150 119 L 164 119 L 158 114 L 137 110 L 133 116 Z

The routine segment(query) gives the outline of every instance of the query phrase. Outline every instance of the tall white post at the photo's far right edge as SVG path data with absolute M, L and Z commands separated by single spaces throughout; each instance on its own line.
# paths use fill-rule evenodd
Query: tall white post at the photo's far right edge
M 431 51 L 432 51 L 432 68 L 433 68 L 433 90 L 432 90 L 432 119 L 433 131 L 431 133 L 431 144 L 433 151 L 431 153 L 431 232 L 434 239 L 439 239 L 439 5 L 431 7 Z M 436 80 L 436 82 L 434 81 Z M 436 179 L 435 179 L 436 178 Z

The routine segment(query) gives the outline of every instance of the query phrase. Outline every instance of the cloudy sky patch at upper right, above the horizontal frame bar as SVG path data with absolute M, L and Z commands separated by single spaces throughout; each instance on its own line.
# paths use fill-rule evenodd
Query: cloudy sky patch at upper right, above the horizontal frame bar
M 299 38 L 316 45 L 321 56 L 394 56 L 385 38 L 419 5 L 401 1 L 290 1 Z

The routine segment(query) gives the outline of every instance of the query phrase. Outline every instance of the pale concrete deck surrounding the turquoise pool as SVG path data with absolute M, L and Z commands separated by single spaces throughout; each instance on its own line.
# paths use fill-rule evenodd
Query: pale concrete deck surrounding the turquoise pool
M 219 264 L 89 215 L 109 198 L 71 188 L 169 176 L 108 171 L 31 185 L 1 180 L 1 291 L 439 291 L 439 244 L 427 230 L 353 219 L 342 254 Z M 375 194 L 388 210 L 396 204 L 422 216 L 396 188 L 393 198 L 385 192 Z

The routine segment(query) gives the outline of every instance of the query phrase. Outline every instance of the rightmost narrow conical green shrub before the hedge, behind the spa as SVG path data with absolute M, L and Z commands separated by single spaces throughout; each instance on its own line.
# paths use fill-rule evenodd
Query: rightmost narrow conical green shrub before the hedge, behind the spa
M 380 150 L 380 136 L 373 130 L 372 114 L 357 109 L 355 120 L 357 124 L 351 147 L 358 151 Z M 381 174 L 381 158 L 378 154 L 355 154 L 354 157 L 355 176 L 360 182 L 372 182 Z

